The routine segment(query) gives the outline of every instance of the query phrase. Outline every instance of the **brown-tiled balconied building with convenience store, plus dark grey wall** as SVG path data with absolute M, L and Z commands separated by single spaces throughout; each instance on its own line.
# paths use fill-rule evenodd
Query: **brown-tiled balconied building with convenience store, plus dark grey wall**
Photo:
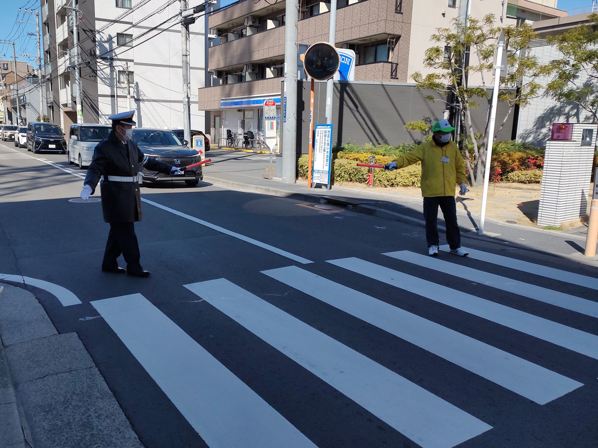
M 349 87 L 343 87 L 343 82 L 335 82 L 334 129 L 345 130 L 343 137 L 335 137 L 339 139 L 338 143 L 349 139 L 371 143 L 413 141 L 414 136 L 402 127 L 405 122 L 442 118 L 444 113 L 444 106 L 426 103 L 425 95 L 414 90 L 411 80 L 414 72 L 429 72 L 422 60 L 425 50 L 433 45 L 430 42 L 432 33 L 438 27 L 450 27 L 451 21 L 465 11 L 480 18 L 495 14 L 505 25 L 535 20 L 536 16 L 566 16 L 565 11 L 556 9 L 556 0 L 538 1 L 544 4 L 528 0 L 337 0 L 335 44 L 356 54 L 355 81 L 349 81 Z M 199 90 L 199 109 L 209 111 L 212 116 L 212 142 L 225 136 L 227 129 L 233 132 L 262 130 L 261 105 L 264 100 L 272 98 L 280 103 L 285 5 L 284 0 L 245 0 L 210 15 L 208 60 L 211 76 L 206 87 Z M 303 53 L 315 42 L 328 41 L 329 8 L 327 1 L 300 2 L 298 53 Z M 301 69 L 299 78 L 305 78 Z M 469 84 L 476 85 L 477 82 L 481 79 L 472 75 Z M 370 87 L 366 87 L 368 84 Z M 319 114 L 320 91 L 321 87 L 317 87 L 316 116 Z M 305 92 L 306 88 L 301 85 L 298 116 L 303 117 L 303 122 L 306 121 Z M 341 110 L 343 101 L 347 102 L 345 112 L 350 113 Z M 381 106 L 381 102 L 385 105 Z M 397 102 L 403 102 L 401 111 L 396 107 Z M 309 106 L 307 110 L 309 112 Z M 353 118 L 350 125 L 338 121 L 349 116 Z M 309 123 L 309 116 L 307 119 Z M 394 125 L 392 120 L 395 120 Z M 395 130 L 383 133 L 380 123 L 388 123 Z M 301 123 L 298 125 L 301 127 Z M 350 129 L 355 129 L 355 133 L 347 133 Z M 510 130 L 508 127 L 505 133 Z M 307 138 L 303 138 L 302 145 L 306 142 Z

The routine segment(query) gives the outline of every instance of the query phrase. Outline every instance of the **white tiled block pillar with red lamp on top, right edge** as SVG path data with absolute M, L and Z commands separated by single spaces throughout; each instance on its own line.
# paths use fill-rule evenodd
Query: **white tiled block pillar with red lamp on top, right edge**
M 555 123 L 546 143 L 538 226 L 559 227 L 587 213 L 598 126 Z

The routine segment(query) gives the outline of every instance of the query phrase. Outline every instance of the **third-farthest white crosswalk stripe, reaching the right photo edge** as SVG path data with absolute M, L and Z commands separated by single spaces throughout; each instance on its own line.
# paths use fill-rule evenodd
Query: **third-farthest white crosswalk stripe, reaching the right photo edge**
M 355 257 L 328 263 L 598 359 L 596 335 Z

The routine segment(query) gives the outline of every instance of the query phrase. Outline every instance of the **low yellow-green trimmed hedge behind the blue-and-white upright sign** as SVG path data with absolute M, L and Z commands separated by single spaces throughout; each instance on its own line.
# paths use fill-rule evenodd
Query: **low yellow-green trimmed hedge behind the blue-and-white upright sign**
M 299 158 L 299 176 L 307 179 L 307 155 Z M 337 158 L 332 161 L 333 182 L 358 182 L 367 183 L 370 170 L 365 167 L 358 167 L 356 161 Z M 374 186 L 416 186 L 422 182 L 422 165 L 411 165 L 401 170 L 386 171 L 374 170 Z

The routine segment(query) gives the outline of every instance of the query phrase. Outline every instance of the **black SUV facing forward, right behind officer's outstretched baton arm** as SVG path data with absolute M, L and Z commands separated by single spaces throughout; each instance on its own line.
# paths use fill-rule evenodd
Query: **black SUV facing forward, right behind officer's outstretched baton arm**
M 173 167 L 183 168 L 188 165 L 200 162 L 202 158 L 194 149 L 184 144 L 175 133 L 163 129 L 135 128 L 133 129 L 133 142 L 137 143 L 139 149 L 160 162 L 165 162 Z M 184 180 L 189 186 L 196 186 L 203 179 L 202 166 L 184 170 L 184 175 L 170 176 L 170 174 L 148 171 L 141 167 L 144 175 L 144 182 L 164 182 L 173 180 Z

